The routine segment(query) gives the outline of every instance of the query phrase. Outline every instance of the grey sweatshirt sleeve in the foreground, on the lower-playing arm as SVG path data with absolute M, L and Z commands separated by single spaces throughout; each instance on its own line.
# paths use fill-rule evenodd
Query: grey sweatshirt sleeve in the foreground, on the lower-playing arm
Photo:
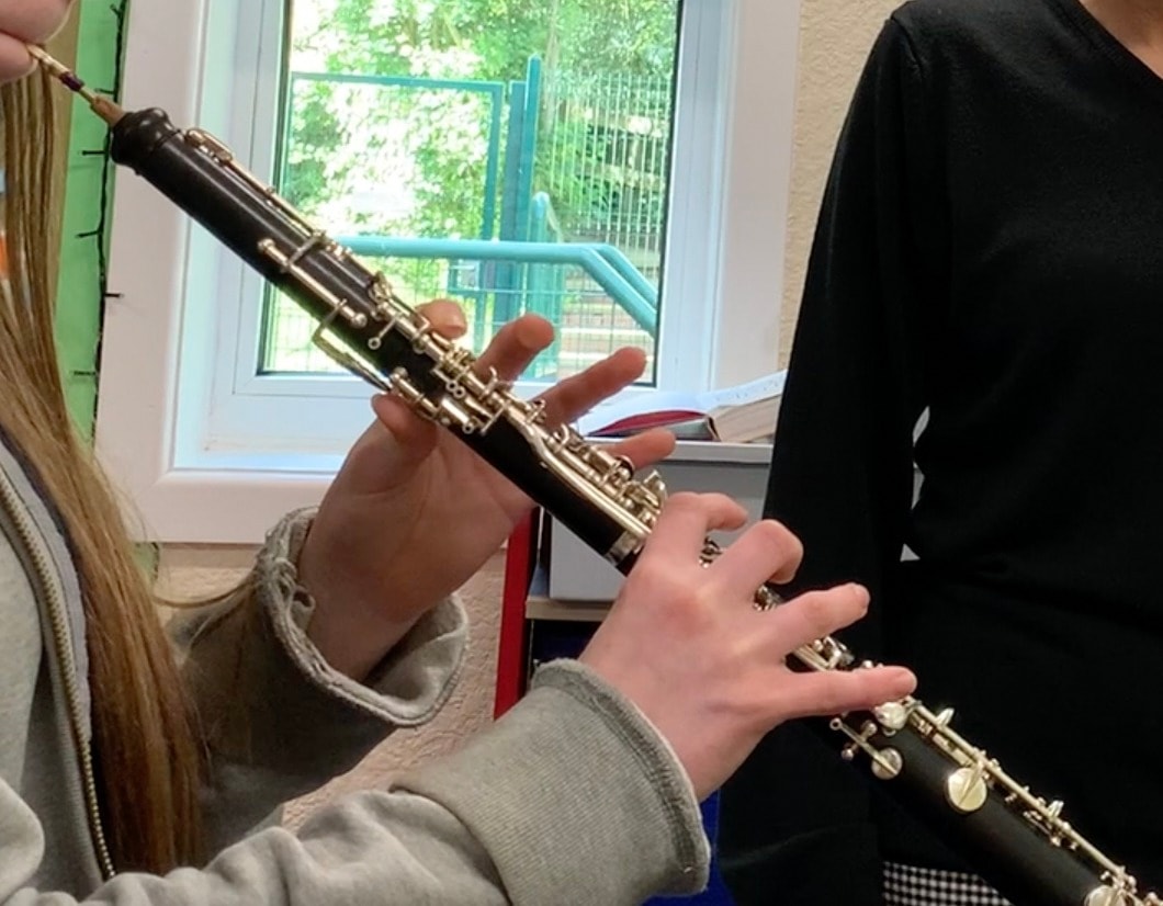
M 0 783 L 0 904 L 67 906 L 21 886 L 43 853 L 35 816 Z M 205 869 L 122 875 L 105 906 L 636 906 L 706 884 L 709 848 L 682 766 L 585 668 L 543 668 L 505 718 L 392 791 L 271 827 Z

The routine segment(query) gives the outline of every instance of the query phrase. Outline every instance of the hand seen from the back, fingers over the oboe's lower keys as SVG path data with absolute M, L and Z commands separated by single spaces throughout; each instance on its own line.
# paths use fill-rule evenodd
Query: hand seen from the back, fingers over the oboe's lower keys
M 792 672 L 784 657 L 858 620 L 869 595 L 842 585 L 756 609 L 756 588 L 790 580 L 802 548 L 766 520 L 701 565 L 706 535 L 745 520 L 743 507 L 721 494 L 672 495 L 579 658 L 666 739 L 700 800 L 785 720 L 875 707 L 916 685 L 902 668 Z

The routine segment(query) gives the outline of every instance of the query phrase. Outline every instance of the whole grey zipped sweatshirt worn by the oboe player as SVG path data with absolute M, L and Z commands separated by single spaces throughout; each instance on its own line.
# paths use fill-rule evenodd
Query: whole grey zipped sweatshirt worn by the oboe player
M 269 536 L 251 586 L 183 619 L 204 726 L 204 866 L 112 875 L 93 793 L 85 620 L 65 538 L 0 437 L 0 906 L 619 906 L 707 879 L 680 765 L 636 708 L 571 662 L 459 752 L 321 808 L 278 807 L 447 700 L 465 644 L 445 601 L 366 685 L 308 641 L 294 562 L 311 514 Z M 98 693 L 99 694 L 99 693 Z

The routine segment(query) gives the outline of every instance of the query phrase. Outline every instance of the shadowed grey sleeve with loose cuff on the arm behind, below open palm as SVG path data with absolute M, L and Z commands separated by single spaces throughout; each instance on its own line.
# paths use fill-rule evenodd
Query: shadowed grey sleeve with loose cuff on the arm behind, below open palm
M 208 756 L 208 853 L 352 769 L 394 728 L 426 723 L 459 676 L 468 632 L 455 600 L 424 616 L 363 684 L 331 669 L 307 636 L 314 605 L 294 566 L 312 516 L 290 514 L 242 587 L 174 621 Z

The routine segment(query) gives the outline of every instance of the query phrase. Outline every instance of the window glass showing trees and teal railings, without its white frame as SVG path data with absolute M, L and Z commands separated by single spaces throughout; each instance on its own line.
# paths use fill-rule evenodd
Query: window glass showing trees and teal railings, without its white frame
M 523 312 L 527 379 L 655 355 L 679 0 L 293 0 L 279 187 L 479 351 Z M 261 372 L 327 371 L 271 293 Z

